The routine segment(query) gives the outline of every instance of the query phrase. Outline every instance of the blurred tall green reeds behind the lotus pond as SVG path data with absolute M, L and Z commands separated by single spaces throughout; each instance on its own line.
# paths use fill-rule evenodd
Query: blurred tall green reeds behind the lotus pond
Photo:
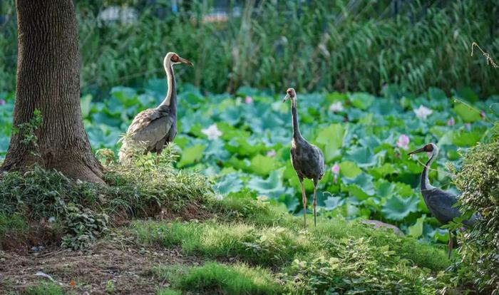
M 279 91 L 413 93 L 470 86 L 496 93 L 499 72 L 470 56 L 473 41 L 499 56 L 498 1 L 74 1 L 82 93 L 163 78 L 176 51 L 195 63 L 182 82 L 212 93 L 240 86 Z M 0 92 L 14 90 L 14 0 L 0 0 Z

